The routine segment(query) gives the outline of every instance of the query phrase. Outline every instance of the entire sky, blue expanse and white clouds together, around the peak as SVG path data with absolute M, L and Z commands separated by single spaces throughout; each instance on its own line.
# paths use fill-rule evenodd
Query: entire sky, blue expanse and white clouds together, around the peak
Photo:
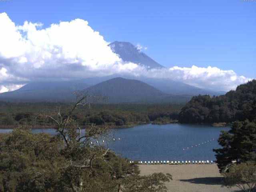
M 111 75 L 228 91 L 256 78 L 255 35 L 256 0 L 0 0 L 0 93 Z M 124 62 L 114 41 L 166 68 Z

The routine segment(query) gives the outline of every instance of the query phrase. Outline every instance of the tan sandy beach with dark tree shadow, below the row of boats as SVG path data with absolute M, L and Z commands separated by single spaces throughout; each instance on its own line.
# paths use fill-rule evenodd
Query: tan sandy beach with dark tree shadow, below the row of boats
M 223 178 L 216 164 L 139 165 L 141 174 L 170 173 L 168 192 L 239 192 L 239 188 L 221 187 Z

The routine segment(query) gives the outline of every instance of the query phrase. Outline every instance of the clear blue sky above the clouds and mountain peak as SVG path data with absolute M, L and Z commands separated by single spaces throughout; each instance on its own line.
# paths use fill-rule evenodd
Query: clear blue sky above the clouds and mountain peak
M 0 12 L 44 27 L 81 18 L 108 42 L 146 46 L 166 67 L 210 65 L 256 78 L 256 1 L 11 0 Z

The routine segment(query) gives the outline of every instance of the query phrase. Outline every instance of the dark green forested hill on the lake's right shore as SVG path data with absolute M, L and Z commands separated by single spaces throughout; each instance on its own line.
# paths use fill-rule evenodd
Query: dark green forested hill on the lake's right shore
M 256 80 L 239 85 L 225 95 L 194 96 L 179 114 L 181 123 L 256 120 Z

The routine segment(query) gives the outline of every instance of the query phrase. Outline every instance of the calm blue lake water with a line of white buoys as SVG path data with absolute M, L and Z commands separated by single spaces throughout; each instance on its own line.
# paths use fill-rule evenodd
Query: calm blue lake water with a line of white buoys
M 213 148 L 219 148 L 217 139 L 220 130 L 230 127 L 212 127 L 188 124 L 139 125 L 114 130 L 115 137 L 110 148 L 132 160 L 182 161 L 216 160 Z M 10 132 L 0 129 L 0 132 Z M 32 132 L 47 132 L 54 135 L 54 129 L 33 129 Z M 203 143 L 203 144 L 202 144 Z M 200 145 L 198 145 L 200 144 Z M 192 147 L 193 146 L 193 147 Z

